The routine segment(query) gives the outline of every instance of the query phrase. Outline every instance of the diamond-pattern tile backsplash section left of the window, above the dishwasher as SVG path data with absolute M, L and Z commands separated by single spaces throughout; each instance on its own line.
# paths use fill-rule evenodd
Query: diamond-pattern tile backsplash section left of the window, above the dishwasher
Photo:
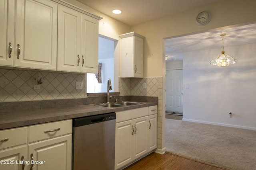
M 39 75 L 43 83 L 34 90 Z M 76 81 L 83 82 L 82 90 L 76 90 Z M 86 74 L 0 69 L 0 102 L 85 98 L 85 84 Z

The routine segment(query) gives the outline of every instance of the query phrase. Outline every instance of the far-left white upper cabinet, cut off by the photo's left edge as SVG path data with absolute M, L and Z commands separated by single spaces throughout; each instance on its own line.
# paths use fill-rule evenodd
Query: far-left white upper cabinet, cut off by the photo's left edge
M 0 2 L 1 66 L 56 70 L 57 7 L 48 0 Z

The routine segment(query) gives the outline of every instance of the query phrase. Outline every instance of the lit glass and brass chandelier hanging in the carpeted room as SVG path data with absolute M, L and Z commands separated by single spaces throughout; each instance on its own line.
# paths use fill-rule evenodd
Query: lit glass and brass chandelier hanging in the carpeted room
M 210 64 L 212 64 L 212 65 L 225 67 L 225 66 L 228 66 L 229 64 L 235 64 L 237 62 L 237 60 L 234 59 L 233 57 L 231 57 L 231 55 L 225 54 L 225 51 L 224 51 L 224 36 L 225 35 L 226 35 L 226 33 L 220 34 L 220 36 L 222 36 L 222 52 L 220 55 L 217 55 L 216 57 L 214 57 L 214 59 L 212 61 L 210 61 Z

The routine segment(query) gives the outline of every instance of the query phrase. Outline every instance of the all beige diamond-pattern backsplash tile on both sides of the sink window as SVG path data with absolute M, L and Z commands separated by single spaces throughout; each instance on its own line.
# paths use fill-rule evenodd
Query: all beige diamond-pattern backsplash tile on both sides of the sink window
M 42 75 L 40 89 L 34 80 Z M 158 96 L 162 94 L 162 78 L 119 78 L 120 96 Z M 83 89 L 76 90 L 76 82 Z M 146 82 L 147 87 L 143 88 Z M 0 102 L 86 98 L 86 74 L 0 69 Z

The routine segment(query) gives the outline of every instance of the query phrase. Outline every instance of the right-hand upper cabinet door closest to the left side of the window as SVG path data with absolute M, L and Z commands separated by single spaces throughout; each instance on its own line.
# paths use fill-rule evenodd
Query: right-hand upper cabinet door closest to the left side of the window
M 98 73 L 98 20 L 82 14 L 81 72 Z

